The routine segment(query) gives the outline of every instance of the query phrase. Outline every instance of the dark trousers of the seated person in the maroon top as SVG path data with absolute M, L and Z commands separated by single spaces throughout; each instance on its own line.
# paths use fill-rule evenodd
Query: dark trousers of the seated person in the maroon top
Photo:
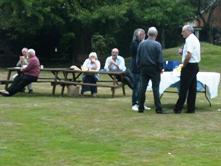
M 37 77 L 25 74 L 19 74 L 17 77 L 15 77 L 11 86 L 8 87 L 7 89 L 7 91 L 9 92 L 9 96 L 12 96 L 17 92 L 22 91 L 25 88 L 25 86 L 35 81 L 37 81 Z

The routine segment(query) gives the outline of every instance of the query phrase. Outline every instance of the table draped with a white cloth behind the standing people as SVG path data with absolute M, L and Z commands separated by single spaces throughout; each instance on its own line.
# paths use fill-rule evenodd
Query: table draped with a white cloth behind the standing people
M 180 73 L 176 71 L 164 72 L 161 74 L 160 95 L 167 92 L 167 88 L 177 88 L 179 90 Z M 220 73 L 217 72 L 198 72 L 197 74 L 197 92 L 204 92 L 210 103 L 210 99 L 218 96 L 220 83 Z M 147 90 L 152 90 L 152 83 L 149 82 Z

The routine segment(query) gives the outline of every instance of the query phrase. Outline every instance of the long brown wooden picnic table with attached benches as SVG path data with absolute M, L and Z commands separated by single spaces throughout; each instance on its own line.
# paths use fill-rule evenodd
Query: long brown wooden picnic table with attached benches
M 12 80 L 12 73 L 20 71 L 20 67 L 10 67 L 8 69 L 8 74 L 6 80 L 1 80 L 1 84 L 5 84 L 5 88 L 13 81 Z M 60 85 L 61 88 L 61 95 L 64 95 L 65 87 L 70 85 L 87 85 L 87 86 L 97 86 L 97 87 L 108 87 L 111 89 L 112 97 L 115 96 L 115 90 L 117 88 L 122 88 L 123 95 L 125 95 L 125 87 L 124 84 L 119 81 L 116 77 L 120 77 L 122 80 L 124 77 L 125 72 L 107 72 L 107 71 L 82 71 L 82 70 L 73 70 L 70 68 L 42 68 L 42 72 L 49 72 L 51 73 L 50 76 L 42 77 L 40 74 L 37 83 L 39 82 L 49 82 L 52 86 L 52 95 L 55 95 L 56 87 Z M 108 76 L 108 79 L 105 80 L 98 80 L 96 84 L 92 83 L 83 83 L 81 79 L 81 75 L 83 74 L 98 74 L 98 75 L 105 75 Z

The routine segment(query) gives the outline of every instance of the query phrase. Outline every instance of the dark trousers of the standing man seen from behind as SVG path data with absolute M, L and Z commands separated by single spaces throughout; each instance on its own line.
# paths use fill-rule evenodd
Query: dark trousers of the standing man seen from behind
M 154 104 L 156 111 L 162 111 L 161 102 L 160 102 L 160 71 L 155 66 L 147 66 L 141 68 L 140 75 L 140 91 L 139 91 L 139 110 L 144 110 L 144 102 L 146 99 L 146 89 L 149 83 L 149 80 L 152 81 L 152 89 L 154 96 Z

